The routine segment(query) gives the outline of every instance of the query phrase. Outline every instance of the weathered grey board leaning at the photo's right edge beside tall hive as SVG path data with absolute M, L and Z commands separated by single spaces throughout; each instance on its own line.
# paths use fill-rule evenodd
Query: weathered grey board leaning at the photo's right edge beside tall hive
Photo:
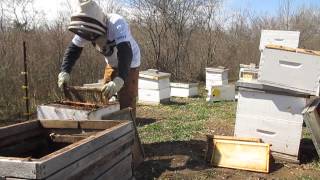
M 320 98 L 317 98 L 308 105 L 303 114 L 304 122 L 311 133 L 312 142 L 320 157 Z

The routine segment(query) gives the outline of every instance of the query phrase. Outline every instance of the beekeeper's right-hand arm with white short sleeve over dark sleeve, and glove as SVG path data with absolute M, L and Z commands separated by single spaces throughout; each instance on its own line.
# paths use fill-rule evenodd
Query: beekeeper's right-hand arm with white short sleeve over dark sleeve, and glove
M 119 75 L 112 81 L 104 85 L 102 91 L 107 98 L 112 97 L 115 93 L 121 90 L 126 81 L 130 65 L 133 57 L 132 48 L 130 44 L 130 30 L 128 24 L 123 20 L 119 19 L 111 32 L 114 32 L 115 41 L 117 46 L 117 57 L 118 57 L 118 70 Z

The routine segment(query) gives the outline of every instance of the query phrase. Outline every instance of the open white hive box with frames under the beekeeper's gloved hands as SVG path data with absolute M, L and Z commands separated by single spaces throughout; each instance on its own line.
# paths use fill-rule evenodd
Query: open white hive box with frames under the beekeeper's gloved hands
M 37 118 L 39 120 L 100 120 L 103 116 L 119 110 L 118 102 L 110 102 L 108 105 L 100 106 L 90 103 L 62 101 L 39 105 L 37 107 Z

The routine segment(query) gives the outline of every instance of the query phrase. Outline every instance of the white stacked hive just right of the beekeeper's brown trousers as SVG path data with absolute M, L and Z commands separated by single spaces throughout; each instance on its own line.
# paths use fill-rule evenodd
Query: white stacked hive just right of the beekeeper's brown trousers
M 170 101 L 170 74 L 149 69 L 139 73 L 139 103 L 160 104 Z

